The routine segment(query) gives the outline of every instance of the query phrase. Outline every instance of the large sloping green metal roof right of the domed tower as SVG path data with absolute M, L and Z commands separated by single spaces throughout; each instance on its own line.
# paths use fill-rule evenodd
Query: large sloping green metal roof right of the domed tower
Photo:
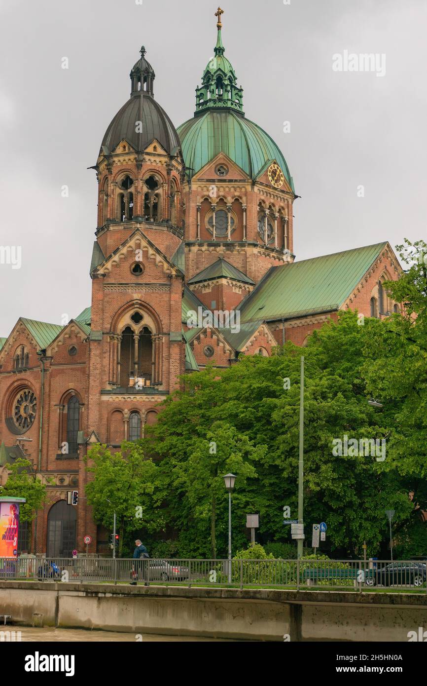
M 241 303 L 241 322 L 339 309 L 385 246 L 376 243 L 271 268 Z

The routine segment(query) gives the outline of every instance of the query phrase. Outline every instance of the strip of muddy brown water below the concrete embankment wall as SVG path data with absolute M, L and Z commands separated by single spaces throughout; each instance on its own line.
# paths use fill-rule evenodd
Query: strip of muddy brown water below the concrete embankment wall
M 49 643 L 60 641 L 88 641 L 90 643 L 97 642 L 111 642 L 118 643 L 122 641 L 136 642 L 138 640 L 143 642 L 156 641 L 215 641 L 215 642 L 230 642 L 227 639 L 211 639 L 199 636 L 162 636 L 160 634 L 133 634 L 120 631 L 86 631 L 84 629 L 51 629 L 51 628 L 34 628 L 32 626 L 8 626 L 9 630 L 15 632 L 21 631 L 21 641 L 49 641 Z M 231 641 L 232 642 L 232 641 Z

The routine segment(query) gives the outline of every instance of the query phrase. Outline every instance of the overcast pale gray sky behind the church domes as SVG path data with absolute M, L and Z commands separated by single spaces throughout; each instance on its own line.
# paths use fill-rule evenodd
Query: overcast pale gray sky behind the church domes
M 0 246 L 22 247 L 21 269 L 0 264 L 0 335 L 19 316 L 61 323 L 90 305 L 97 185 L 86 167 L 142 44 L 175 126 L 193 115 L 218 0 L 140 1 L 0 0 Z M 221 6 L 245 113 L 278 143 L 302 196 L 297 259 L 425 238 L 426 0 Z M 385 54 L 385 75 L 333 71 L 345 50 Z

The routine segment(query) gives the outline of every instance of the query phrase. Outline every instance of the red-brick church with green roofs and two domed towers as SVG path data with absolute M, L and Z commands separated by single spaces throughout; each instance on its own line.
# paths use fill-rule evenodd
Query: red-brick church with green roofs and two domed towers
M 342 310 L 399 311 L 382 286 L 402 273 L 387 241 L 295 261 L 293 178 L 246 116 L 222 14 L 195 111 L 178 128 L 156 100 L 145 47 L 130 71 L 94 166 L 91 306 L 65 325 L 20 317 L 0 338 L 0 483 L 19 457 L 49 480 L 20 552 L 69 556 L 86 550 L 86 534 L 89 553 L 109 552 L 86 506 L 83 458 L 97 442 L 141 438 L 184 372 L 304 346 Z

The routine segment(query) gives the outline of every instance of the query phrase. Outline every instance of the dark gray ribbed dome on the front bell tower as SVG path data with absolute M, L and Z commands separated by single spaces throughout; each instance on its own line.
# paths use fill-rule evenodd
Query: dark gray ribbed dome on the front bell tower
M 137 126 L 138 121 L 142 121 L 142 127 Z M 142 132 L 137 133 L 137 128 L 142 128 Z M 108 126 L 101 145 L 108 147 L 109 152 L 112 152 L 123 139 L 126 139 L 137 152 L 143 152 L 153 139 L 157 139 L 169 154 L 176 154 L 177 151 L 174 149 L 181 147 L 171 119 L 154 97 L 144 91 L 132 95 L 119 110 Z

